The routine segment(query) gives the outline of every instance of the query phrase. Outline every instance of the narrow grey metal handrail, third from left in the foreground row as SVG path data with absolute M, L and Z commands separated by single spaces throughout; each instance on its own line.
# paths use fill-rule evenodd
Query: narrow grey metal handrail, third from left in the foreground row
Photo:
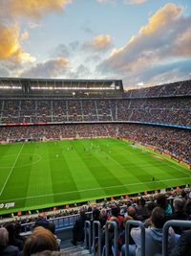
M 109 230 L 108 230 L 108 225 L 112 224 L 114 226 L 114 245 L 115 245 L 115 256 L 118 255 L 118 243 L 117 243 L 117 238 L 118 238 L 118 230 L 117 230 L 117 222 L 116 221 L 107 221 L 105 224 L 105 255 L 109 255 Z

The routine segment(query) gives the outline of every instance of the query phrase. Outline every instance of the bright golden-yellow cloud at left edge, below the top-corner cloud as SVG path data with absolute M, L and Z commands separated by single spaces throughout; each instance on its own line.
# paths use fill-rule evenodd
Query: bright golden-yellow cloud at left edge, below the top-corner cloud
M 0 25 L 0 42 L 0 60 L 8 59 L 14 62 L 32 62 L 35 60 L 22 49 L 17 24 L 11 26 Z

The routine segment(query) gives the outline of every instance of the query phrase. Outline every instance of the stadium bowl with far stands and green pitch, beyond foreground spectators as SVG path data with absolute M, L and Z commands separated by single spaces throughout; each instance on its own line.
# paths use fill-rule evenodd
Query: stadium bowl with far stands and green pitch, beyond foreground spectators
M 0 213 L 69 209 L 191 181 L 191 81 L 0 80 Z

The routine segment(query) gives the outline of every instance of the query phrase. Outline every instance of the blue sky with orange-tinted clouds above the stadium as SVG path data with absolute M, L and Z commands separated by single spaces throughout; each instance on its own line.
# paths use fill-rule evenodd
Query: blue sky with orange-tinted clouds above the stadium
M 0 0 L 0 77 L 191 79 L 191 0 Z

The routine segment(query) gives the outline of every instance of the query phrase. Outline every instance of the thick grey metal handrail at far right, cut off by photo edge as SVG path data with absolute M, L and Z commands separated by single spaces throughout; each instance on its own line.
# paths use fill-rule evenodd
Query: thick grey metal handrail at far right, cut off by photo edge
M 191 221 L 167 221 L 163 226 L 162 236 L 162 256 L 168 256 L 168 230 L 170 226 L 189 227 L 191 228 Z

